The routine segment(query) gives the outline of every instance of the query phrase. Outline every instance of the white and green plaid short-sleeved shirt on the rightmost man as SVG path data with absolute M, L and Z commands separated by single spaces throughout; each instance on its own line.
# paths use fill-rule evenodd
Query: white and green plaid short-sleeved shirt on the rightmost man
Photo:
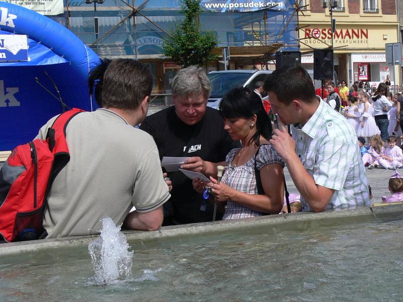
M 357 134 L 347 119 L 325 102 L 293 133 L 296 153 L 317 185 L 334 189 L 326 209 L 369 206 L 368 179 Z M 302 209 L 310 211 L 301 196 Z

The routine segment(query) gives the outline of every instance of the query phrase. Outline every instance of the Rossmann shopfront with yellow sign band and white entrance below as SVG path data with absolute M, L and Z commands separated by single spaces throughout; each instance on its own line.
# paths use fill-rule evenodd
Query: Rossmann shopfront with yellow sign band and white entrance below
M 312 48 L 329 48 L 332 34 L 330 27 L 309 25 L 300 29 L 301 51 Z M 394 25 L 354 25 L 338 24 L 333 34 L 334 70 L 340 80 L 350 85 L 355 81 L 369 82 L 377 86 L 389 75 L 391 85 L 398 83 L 393 77 L 393 67 L 386 64 L 385 43 L 397 41 L 397 27 Z M 302 63 L 313 69 L 313 54 L 306 53 Z M 399 74 L 396 68 L 395 77 Z

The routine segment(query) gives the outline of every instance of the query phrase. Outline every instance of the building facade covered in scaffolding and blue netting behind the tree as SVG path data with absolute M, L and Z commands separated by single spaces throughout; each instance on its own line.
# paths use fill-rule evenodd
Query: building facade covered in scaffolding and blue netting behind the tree
M 170 93 L 180 66 L 163 56 L 161 46 L 183 18 L 180 1 L 64 1 L 65 13 L 56 17 L 58 22 L 64 22 L 101 57 L 136 58 L 148 64 L 154 75 L 153 94 L 162 96 L 153 104 Z M 260 66 L 264 55 L 280 47 L 298 47 L 294 0 L 202 0 L 200 6 L 201 30 L 214 31 L 217 46 L 230 48 L 230 69 Z M 208 71 L 224 69 L 221 51 L 217 52 L 218 60 L 208 64 Z

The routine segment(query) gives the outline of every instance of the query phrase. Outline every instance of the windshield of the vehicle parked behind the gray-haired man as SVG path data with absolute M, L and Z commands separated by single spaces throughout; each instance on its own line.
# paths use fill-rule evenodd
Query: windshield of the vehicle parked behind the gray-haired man
M 217 72 L 207 74 L 211 82 L 210 98 L 222 98 L 231 89 L 243 86 L 250 75 L 250 72 Z

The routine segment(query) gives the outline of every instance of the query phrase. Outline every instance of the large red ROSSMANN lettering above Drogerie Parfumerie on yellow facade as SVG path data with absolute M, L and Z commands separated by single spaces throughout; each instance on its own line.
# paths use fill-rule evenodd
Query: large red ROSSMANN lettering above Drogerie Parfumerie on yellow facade
M 322 42 L 331 43 L 330 28 L 305 28 L 303 31 L 306 44 L 319 44 L 322 47 Z M 368 46 L 368 29 L 337 29 L 333 34 L 333 43 L 335 45 L 366 44 L 365 46 Z

